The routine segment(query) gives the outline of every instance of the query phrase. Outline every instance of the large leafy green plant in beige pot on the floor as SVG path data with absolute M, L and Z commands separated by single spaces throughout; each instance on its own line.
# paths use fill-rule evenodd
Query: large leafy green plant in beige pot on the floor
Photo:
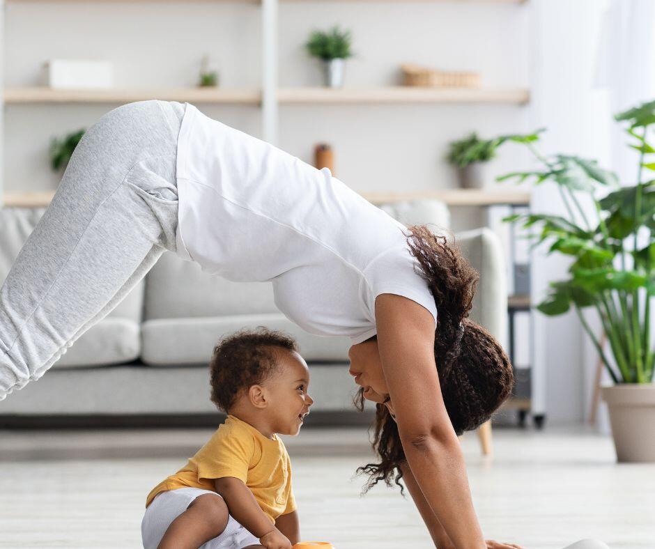
M 655 351 L 651 330 L 651 300 L 655 295 L 655 180 L 649 170 L 655 153 L 647 141 L 655 123 L 655 101 L 615 116 L 626 123 L 629 146 L 638 150 L 636 184 L 619 185 L 615 173 L 593 160 L 576 156 L 541 155 L 534 143 L 538 133 L 514 136 L 539 160 L 535 171 L 508 173 L 498 180 L 555 183 L 567 216 L 532 214 L 507 217 L 524 227 L 538 226 L 532 235 L 538 245 L 548 241 L 548 253 L 571 256 L 567 279 L 550 284 L 550 293 L 537 307 L 544 314 L 576 311 L 592 339 L 613 385 L 603 387 L 608 403 L 618 461 L 655 462 Z M 587 215 L 580 199 L 590 200 Z M 601 345 L 583 314 L 592 309 L 601 320 L 609 352 Z

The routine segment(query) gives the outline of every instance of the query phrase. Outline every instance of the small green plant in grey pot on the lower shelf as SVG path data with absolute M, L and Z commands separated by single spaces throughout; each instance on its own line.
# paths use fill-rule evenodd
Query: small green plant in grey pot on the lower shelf
M 464 139 L 451 141 L 447 160 L 457 169 L 459 185 L 465 189 L 480 189 L 486 180 L 486 162 L 495 157 L 498 139 L 479 139 L 473 132 Z

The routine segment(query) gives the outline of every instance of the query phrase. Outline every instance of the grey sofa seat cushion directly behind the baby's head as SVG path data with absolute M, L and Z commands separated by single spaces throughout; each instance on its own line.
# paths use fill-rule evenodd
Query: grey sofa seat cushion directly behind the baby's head
M 281 313 L 268 313 L 146 320 L 141 326 L 141 360 L 151 366 L 207 364 L 214 346 L 223 336 L 258 326 L 291 334 L 308 362 L 330 361 L 334 357 L 339 362 L 348 359 L 350 339 L 347 337 L 317 337 L 300 329 Z

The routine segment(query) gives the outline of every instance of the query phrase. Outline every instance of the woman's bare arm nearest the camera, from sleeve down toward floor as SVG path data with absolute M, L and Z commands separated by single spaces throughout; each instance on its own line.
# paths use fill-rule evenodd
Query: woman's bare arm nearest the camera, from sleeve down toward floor
M 378 349 L 407 462 L 457 548 L 486 549 L 459 440 L 441 396 L 434 319 L 406 297 L 378 295 Z

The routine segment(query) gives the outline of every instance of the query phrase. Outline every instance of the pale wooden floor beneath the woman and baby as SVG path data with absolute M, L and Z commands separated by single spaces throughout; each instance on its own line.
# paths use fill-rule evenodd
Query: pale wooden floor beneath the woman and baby
M 1 548 L 138 548 L 144 497 L 210 431 L 0 431 Z M 495 429 L 495 455 L 462 440 L 488 539 L 560 549 L 583 538 L 655 548 L 655 465 L 617 465 L 609 438 L 582 426 Z M 359 497 L 371 457 L 360 428 L 285 438 L 306 540 L 337 549 L 432 547 L 399 491 Z

